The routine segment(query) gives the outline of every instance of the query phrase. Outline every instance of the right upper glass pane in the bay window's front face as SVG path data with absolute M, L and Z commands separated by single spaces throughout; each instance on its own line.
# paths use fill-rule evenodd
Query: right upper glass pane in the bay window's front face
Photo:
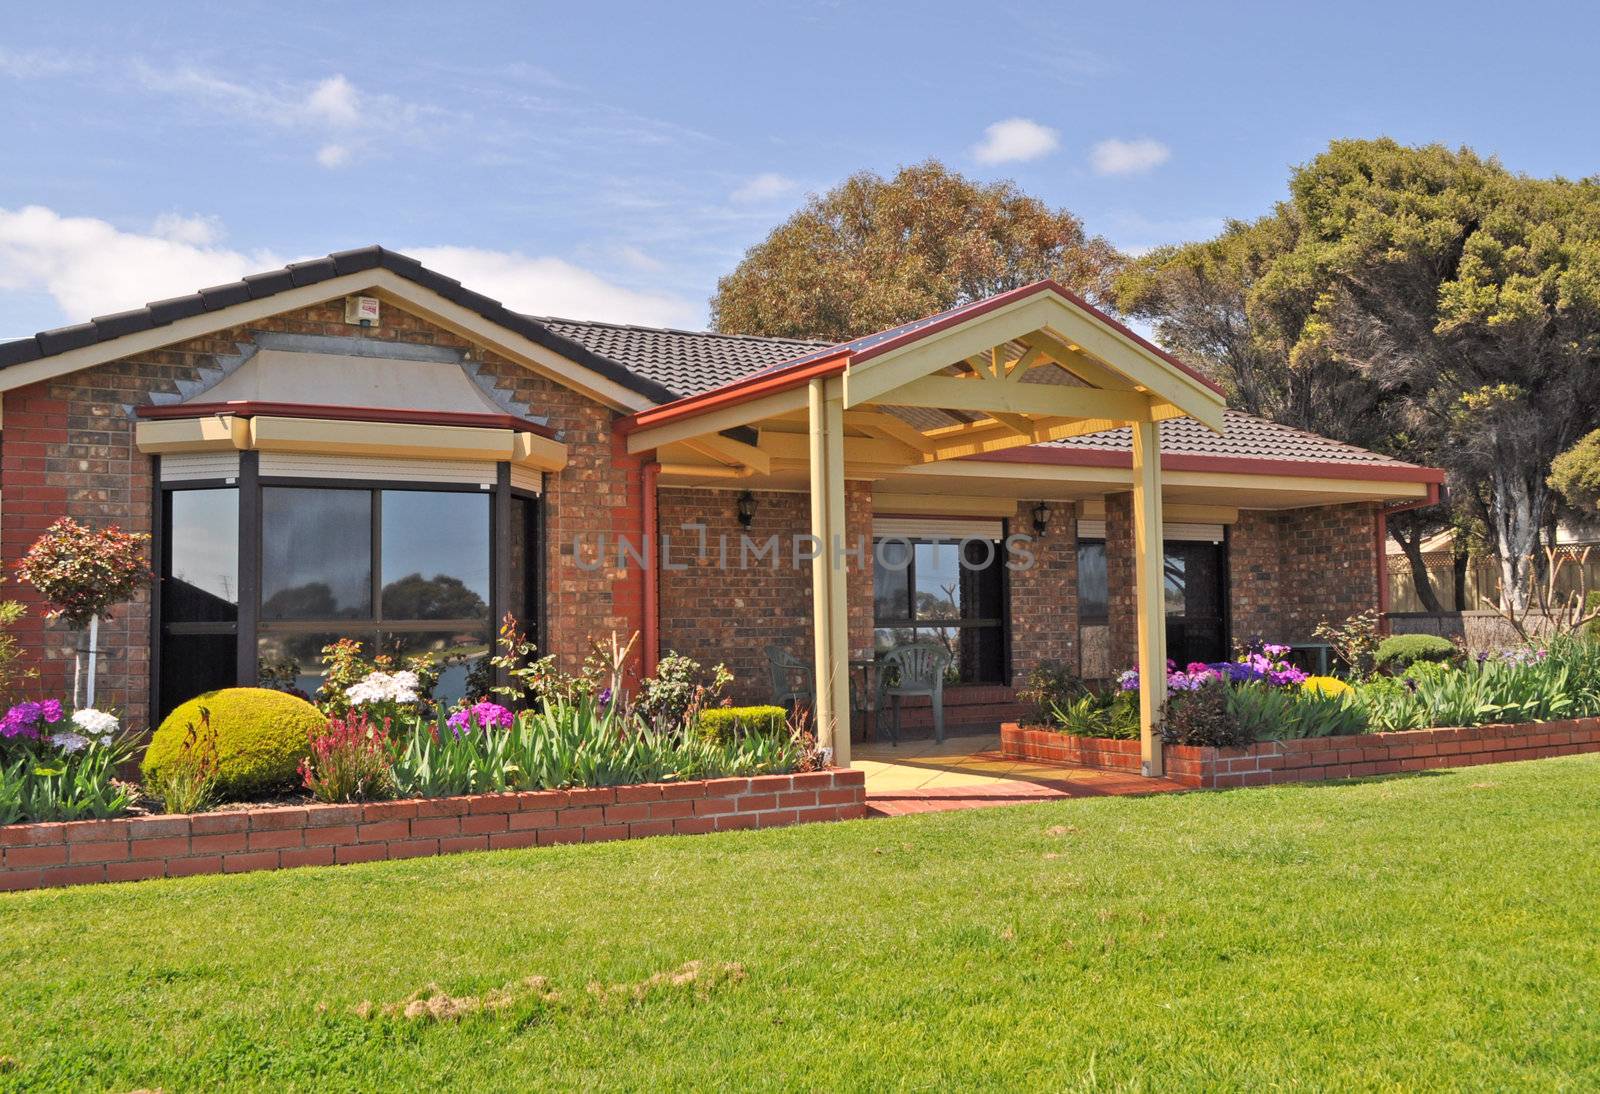
M 382 491 L 384 619 L 478 619 L 490 609 L 490 496 Z

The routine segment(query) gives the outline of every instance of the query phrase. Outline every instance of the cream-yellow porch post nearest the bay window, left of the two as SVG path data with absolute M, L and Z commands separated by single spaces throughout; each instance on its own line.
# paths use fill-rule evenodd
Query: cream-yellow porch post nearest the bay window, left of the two
M 811 534 L 821 555 L 811 563 L 816 648 L 816 737 L 850 766 L 850 617 L 845 595 L 845 400 L 838 379 L 813 379 Z

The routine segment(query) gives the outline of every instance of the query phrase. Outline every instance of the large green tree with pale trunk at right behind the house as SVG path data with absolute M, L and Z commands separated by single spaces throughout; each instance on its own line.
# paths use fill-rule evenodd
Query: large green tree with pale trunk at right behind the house
M 1550 461 L 1600 409 L 1594 181 L 1339 141 L 1262 221 L 1146 256 L 1118 302 L 1248 409 L 1443 465 L 1526 608 Z

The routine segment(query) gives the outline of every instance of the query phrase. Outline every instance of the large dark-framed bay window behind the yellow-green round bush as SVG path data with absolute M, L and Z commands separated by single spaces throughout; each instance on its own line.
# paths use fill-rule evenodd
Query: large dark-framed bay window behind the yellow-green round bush
M 261 534 L 240 544 L 253 523 L 240 520 L 248 499 L 259 504 Z M 261 667 L 294 662 L 296 686 L 314 693 L 322 648 L 338 638 L 368 656 L 432 653 L 443 665 L 434 694 L 454 701 L 490 651 L 496 595 L 530 633 L 538 629 L 538 499 L 509 501 L 499 536 L 509 585 L 494 590 L 494 494 L 478 486 L 165 488 L 157 715 L 237 683 L 240 643 Z M 259 601 L 242 613 L 242 563 L 258 558 Z

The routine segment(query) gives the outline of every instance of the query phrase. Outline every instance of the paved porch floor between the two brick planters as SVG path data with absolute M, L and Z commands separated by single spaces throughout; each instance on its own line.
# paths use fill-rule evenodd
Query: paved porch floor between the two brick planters
M 867 814 L 894 817 L 1045 801 L 1182 790 L 1168 779 L 1064 763 L 1011 760 L 1000 734 L 870 741 L 853 747 L 851 765 L 867 773 Z

